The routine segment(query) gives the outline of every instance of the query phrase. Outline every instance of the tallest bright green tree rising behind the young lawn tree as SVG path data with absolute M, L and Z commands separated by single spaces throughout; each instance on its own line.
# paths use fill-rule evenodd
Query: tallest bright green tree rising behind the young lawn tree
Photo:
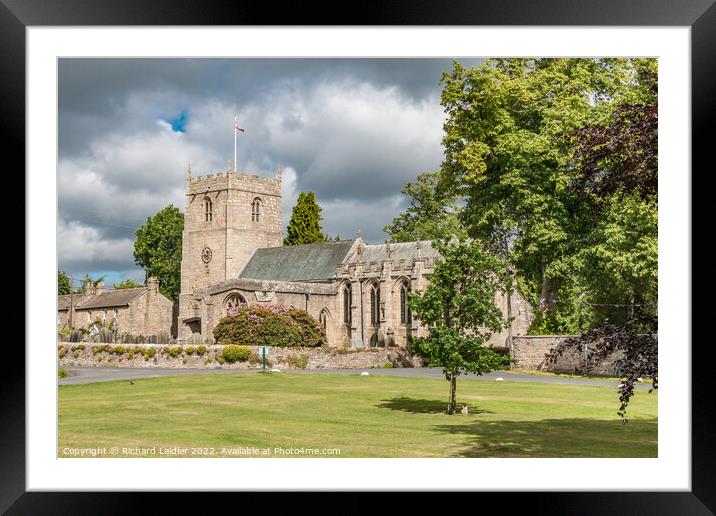
M 607 125 L 619 106 L 647 103 L 645 72 L 655 67 L 648 59 L 489 59 L 443 75 L 441 187 L 464 200 L 469 235 L 510 259 L 545 331 L 580 324 L 568 308 L 586 288 L 576 257 L 600 226 L 597 199 L 582 188 L 579 130 Z

